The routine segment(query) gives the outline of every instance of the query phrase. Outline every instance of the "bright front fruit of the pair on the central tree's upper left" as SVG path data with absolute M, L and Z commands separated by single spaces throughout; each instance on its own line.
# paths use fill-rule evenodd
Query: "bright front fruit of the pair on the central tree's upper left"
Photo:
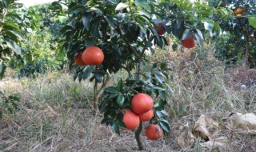
M 82 61 L 90 66 L 97 66 L 104 60 L 104 54 L 97 46 L 89 46 L 82 53 Z

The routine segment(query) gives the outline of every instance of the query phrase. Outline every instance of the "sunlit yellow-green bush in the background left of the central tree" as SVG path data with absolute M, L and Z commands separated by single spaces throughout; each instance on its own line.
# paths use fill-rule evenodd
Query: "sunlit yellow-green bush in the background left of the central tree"
M 21 43 L 22 63 L 16 62 L 17 58 L 9 62 L 10 66 L 19 70 L 19 78 L 34 78 L 46 71 L 64 68 L 65 61 L 55 54 L 62 22 L 59 22 L 60 16 L 55 16 L 56 14 L 48 10 L 48 7 L 49 5 L 39 5 L 22 10 L 36 26 L 33 26 L 34 29 L 28 29 L 26 41 Z

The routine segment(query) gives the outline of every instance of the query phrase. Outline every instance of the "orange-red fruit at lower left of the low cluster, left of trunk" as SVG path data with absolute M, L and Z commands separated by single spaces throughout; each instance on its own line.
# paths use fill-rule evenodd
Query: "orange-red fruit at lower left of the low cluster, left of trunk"
M 139 124 L 139 117 L 132 110 L 125 110 L 125 114 L 122 118 L 122 122 L 126 124 L 128 130 L 135 129 Z

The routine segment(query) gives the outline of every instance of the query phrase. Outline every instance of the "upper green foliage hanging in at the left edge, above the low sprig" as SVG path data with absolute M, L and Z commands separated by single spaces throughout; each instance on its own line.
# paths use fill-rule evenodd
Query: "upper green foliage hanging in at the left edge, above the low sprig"
M 13 58 L 21 58 L 22 49 L 19 43 L 23 40 L 23 20 L 16 9 L 22 8 L 22 4 L 13 0 L 2 0 L 0 2 L 0 78 L 6 70 L 6 62 Z

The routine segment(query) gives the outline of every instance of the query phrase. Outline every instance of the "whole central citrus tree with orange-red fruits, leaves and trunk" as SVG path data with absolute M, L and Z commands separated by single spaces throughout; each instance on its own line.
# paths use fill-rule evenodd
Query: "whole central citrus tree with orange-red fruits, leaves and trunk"
M 151 63 L 147 54 L 166 45 L 165 34 L 174 34 L 183 46 L 202 46 L 202 30 L 220 33 L 212 14 L 226 16 L 225 9 L 190 1 L 58 1 L 50 9 L 68 7 L 58 54 L 67 54 L 74 80 L 94 82 L 94 110 L 104 114 L 102 123 L 120 134 L 134 130 L 140 150 L 142 122 L 150 121 L 146 136 L 156 140 L 170 132 L 164 107 L 171 97 L 166 63 Z M 143 65 L 150 64 L 150 70 Z M 127 78 L 107 86 L 110 74 L 126 70 Z M 102 85 L 100 85 L 102 83 Z M 98 105 L 99 103 L 99 105 Z M 157 125 L 154 125 L 157 124 Z

